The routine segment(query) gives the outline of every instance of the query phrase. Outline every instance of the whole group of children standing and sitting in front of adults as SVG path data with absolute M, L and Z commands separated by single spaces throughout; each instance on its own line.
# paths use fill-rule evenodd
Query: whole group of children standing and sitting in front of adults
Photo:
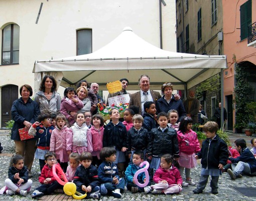
M 144 104 L 144 110 L 146 114 L 142 117 L 136 114 L 135 110 L 126 109 L 124 121 L 120 122 L 119 111 L 112 109 L 109 111 L 111 120 L 106 126 L 103 126 L 104 121 L 98 114 L 93 115 L 90 122 L 87 121 L 89 123 L 86 123 L 86 114 L 78 114 L 76 122 L 70 128 L 66 126 L 66 118 L 62 114 L 56 117 L 55 128 L 50 122 L 54 123 L 53 117 L 41 114 L 39 122 L 34 123 L 29 131 L 38 138 L 36 157 L 40 162 L 39 181 L 42 183 L 32 193 L 32 197 L 50 194 L 62 188 L 52 174 L 54 164 L 60 165 L 68 180 L 76 184 L 77 191 L 87 192 L 87 197 L 100 198 L 101 195 L 108 194 L 120 198 L 126 187 L 132 192 L 170 194 L 180 192 L 182 187 L 195 185 L 191 180 L 190 171 L 196 166 L 196 160 L 199 158 L 202 164 L 201 177 L 193 192 L 201 193 L 207 184 L 208 176 L 211 175 L 212 193 L 216 194 L 218 178 L 227 160 L 243 161 L 242 154 L 246 151 L 244 144 L 238 141 L 236 144 L 240 158 L 228 158 L 227 145 L 216 134 L 218 125 L 215 122 L 208 121 L 204 125 L 203 131 L 207 139 L 200 149 L 190 117 L 184 117 L 177 123 L 179 116 L 176 110 L 156 115 L 155 104 L 150 101 Z M 251 155 L 253 156 L 252 153 Z M 6 182 L 9 189 L 6 193 L 12 195 L 20 192 L 26 196 L 26 189 L 28 190 L 32 182 L 28 183 L 26 167 L 23 165 L 23 159 L 20 160 L 22 165 L 18 166 L 13 160 L 10 167 L 18 174 L 15 171 L 15 174 L 11 173 L 13 171 L 9 169 L 9 178 L 14 179 L 11 179 L 12 186 L 9 185 L 10 181 Z M 130 163 L 125 170 L 127 160 Z M 155 184 L 151 185 L 149 182 L 145 187 L 140 187 L 136 184 L 134 175 L 142 168 L 140 164 L 144 160 L 150 162 L 150 168 L 154 172 L 151 176 Z M 256 161 L 255 158 L 254 160 Z M 256 168 L 256 162 L 255 166 L 251 164 L 254 164 L 254 161 L 249 163 L 249 173 Z M 242 163 L 237 170 L 237 166 L 233 171 L 227 170 L 232 179 L 238 177 L 247 167 Z M 186 178 L 183 180 L 184 169 Z M 26 178 L 22 177 L 22 172 L 25 172 Z M 62 178 L 60 172 L 58 175 Z M 138 181 L 144 183 L 145 178 L 145 173 L 142 172 Z M 25 185 L 26 183 L 28 184 Z M 21 187 L 21 184 L 25 186 Z

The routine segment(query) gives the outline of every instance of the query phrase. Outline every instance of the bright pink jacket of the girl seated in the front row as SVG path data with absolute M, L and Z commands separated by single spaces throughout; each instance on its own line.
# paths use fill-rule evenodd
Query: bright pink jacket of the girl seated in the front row
M 182 184 L 182 177 L 177 167 L 172 166 L 172 169 L 164 169 L 159 167 L 154 174 L 153 180 L 155 183 L 159 183 L 162 180 L 166 180 L 168 184 Z

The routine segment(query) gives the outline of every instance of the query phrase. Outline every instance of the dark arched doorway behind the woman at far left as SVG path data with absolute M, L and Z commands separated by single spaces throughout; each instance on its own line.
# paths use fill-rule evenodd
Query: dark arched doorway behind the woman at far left
M 12 119 L 11 109 L 13 102 L 18 98 L 18 86 L 6 85 L 2 87 L 1 93 L 1 127 L 6 127 L 6 122 Z

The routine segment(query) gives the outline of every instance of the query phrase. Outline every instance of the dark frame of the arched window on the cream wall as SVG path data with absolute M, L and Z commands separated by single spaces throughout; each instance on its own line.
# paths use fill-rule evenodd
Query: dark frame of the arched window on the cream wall
M 10 39 L 10 50 L 8 51 L 4 51 L 4 31 L 5 29 L 8 28 L 8 26 L 11 26 L 11 39 Z M 18 50 L 14 50 L 14 26 L 17 26 L 19 28 L 19 46 L 18 46 Z M 4 63 L 4 53 L 6 52 L 10 52 L 10 63 Z M 14 59 L 14 52 L 18 52 L 18 62 L 14 63 L 13 59 Z M 20 63 L 20 26 L 17 24 L 9 24 L 7 26 L 5 26 L 5 28 L 2 30 L 2 51 L 1 51 L 1 65 L 5 66 L 5 65 L 18 65 Z

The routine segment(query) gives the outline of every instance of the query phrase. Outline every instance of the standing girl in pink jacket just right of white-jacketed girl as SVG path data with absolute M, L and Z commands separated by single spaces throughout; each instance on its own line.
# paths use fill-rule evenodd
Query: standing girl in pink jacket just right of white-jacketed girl
M 100 165 L 102 160 L 100 160 L 99 153 L 102 149 L 102 141 L 103 141 L 103 132 L 104 132 L 104 120 L 102 116 L 99 114 L 94 114 L 91 118 L 91 141 L 92 141 L 92 164 L 97 167 Z

